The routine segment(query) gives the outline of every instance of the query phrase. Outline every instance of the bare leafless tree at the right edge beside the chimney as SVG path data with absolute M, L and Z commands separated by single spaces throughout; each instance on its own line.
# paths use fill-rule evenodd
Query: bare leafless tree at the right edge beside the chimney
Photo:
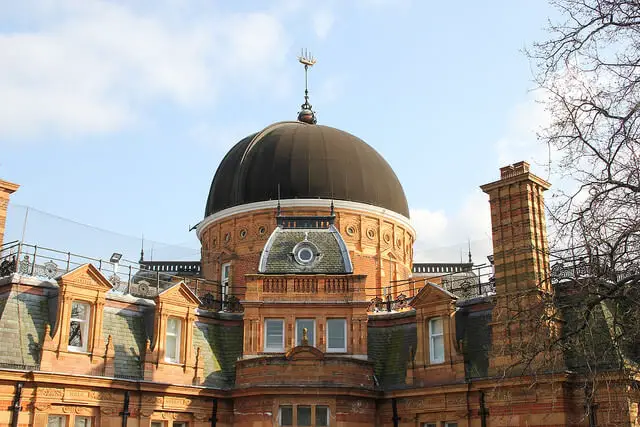
M 551 116 L 539 136 L 562 180 L 548 211 L 564 327 L 550 344 L 587 374 L 588 403 L 603 373 L 639 372 L 640 1 L 549 1 L 559 18 L 527 54 Z

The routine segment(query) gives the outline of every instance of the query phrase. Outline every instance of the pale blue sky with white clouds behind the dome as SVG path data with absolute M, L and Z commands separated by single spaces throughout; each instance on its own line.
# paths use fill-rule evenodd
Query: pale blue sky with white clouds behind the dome
M 512 0 L 0 0 L 0 179 L 21 185 L 5 241 L 24 229 L 33 244 L 133 259 L 144 235 L 155 259 L 198 259 L 189 227 L 220 160 L 296 118 L 307 48 L 319 123 L 398 175 L 415 261 L 458 262 L 470 242 L 482 262 L 479 186 L 519 160 L 546 178 L 523 49 L 552 13 Z

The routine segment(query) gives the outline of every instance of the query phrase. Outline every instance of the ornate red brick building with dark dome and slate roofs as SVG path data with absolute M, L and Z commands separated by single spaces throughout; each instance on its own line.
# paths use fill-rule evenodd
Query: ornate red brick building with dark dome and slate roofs
M 2 246 L 1 425 L 595 425 L 563 354 L 533 360 L 544 366 L 535 377 L 509 369 L 523 343 L 566 324 L 562 313 L 544 327 L 519 318 L 555 292 L 549 184 L 520 162 L 482 187 L 488 274 L 414 264 L 389 165 L 312 113 L 300 118 L 222 160 L 197 227 L 200 261 Z M 1 237 L 17 186 L 0 189 Z M 638 425 L 624 373 L 603 370 L 597 425 Z

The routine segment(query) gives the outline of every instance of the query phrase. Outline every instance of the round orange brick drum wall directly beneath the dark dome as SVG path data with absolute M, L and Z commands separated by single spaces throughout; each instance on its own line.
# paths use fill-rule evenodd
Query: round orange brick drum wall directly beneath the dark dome
M 318 208 L 285 208 L 283 215 L 327 215 Z M 394 280 L 409 277 L 415 236 L 399 222 L 373 213 L 336 209 L 335 226 L 351 256 L 355 274 L 367 275 L 367 296 L 382 294 Z M 225 217 L 202 230 L 202 272 L 219 281 L 220 266 L 231 262 L 232 283 L 242 298 L 245 274 L 257 273 L 260 254 L 276 227 L 274 209 Z M 394 294 L 402 290 L 393 289 Z M 405 295 L 407 293 L 405 292 Z

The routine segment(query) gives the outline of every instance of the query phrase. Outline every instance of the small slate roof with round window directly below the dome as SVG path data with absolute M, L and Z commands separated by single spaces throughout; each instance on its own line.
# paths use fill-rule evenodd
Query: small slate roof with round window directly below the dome
M 294 248 L 308 241 L 317 248 L 316 260 L 304 265 L 295 260 Z M 353 272 L 342 236 L 334 226 L 327 229 L 276 227 L 260 257 L 263 274 L 345 274 Z

